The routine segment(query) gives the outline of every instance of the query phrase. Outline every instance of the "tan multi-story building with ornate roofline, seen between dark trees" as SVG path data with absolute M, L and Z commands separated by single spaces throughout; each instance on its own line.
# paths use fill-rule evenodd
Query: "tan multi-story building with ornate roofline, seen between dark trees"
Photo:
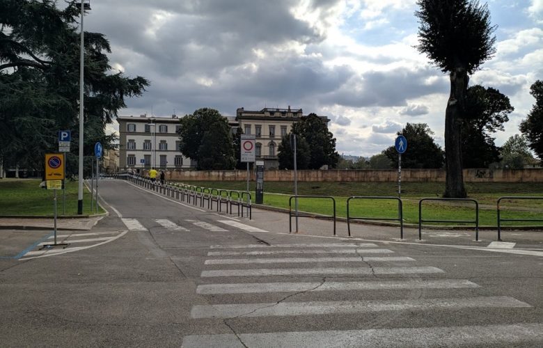
M 272 109 L 249 111 L 239 108 L 236 120 L 244 134 L 255 136 L 255 157 L 264 161 L 265 168 L 278 168 L 277 147 L 283 136 L 290 133 L 292 124 L 301 119 L 302 109 Z M 319 116 L 324 122 L 329 122 L 326 116 Z

